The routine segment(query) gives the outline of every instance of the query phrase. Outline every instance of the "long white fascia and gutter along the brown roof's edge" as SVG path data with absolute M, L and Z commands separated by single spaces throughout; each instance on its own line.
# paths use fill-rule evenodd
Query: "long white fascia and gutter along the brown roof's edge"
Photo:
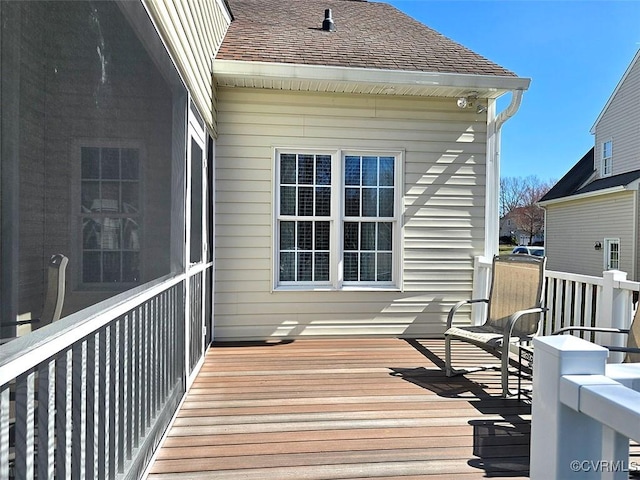
M 531 79 L 458 73 L 417 72 L 374 68 L 302 65 L 294 63 L 250 62 L 242 60 L 213 61 L 213 75 L 237 78 L 331 81 L 354 84 L 403 85 L 425 88 L 465 88 L 490 92 L 496 98 L 513 90 L 527 90 Z

